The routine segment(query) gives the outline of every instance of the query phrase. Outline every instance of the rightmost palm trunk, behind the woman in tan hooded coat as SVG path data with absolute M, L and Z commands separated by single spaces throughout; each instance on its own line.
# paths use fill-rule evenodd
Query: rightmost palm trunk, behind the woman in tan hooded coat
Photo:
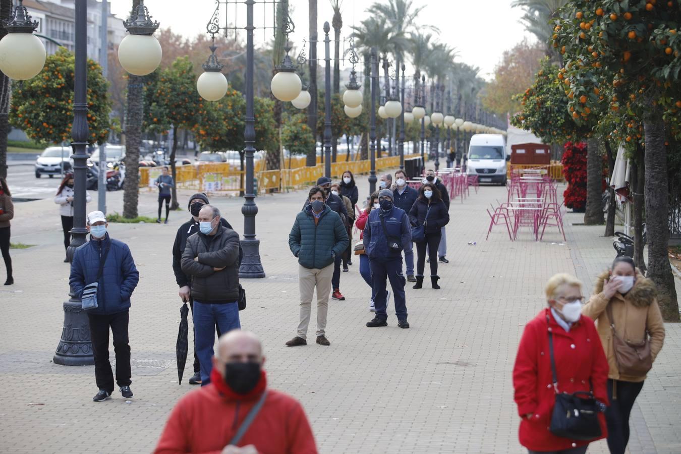
M 669 264 L 669 194 L 667 150 L 661 108 L 648 95 L 644 116 L 646 135 L 646 229 L 648 231 L 648 277 L 657 287 L 657 302 L 665 321 L 679 321 L 674 274 Z

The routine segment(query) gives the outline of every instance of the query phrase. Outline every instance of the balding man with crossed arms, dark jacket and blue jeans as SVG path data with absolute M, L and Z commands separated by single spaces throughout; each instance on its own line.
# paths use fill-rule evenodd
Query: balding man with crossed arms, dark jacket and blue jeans
M 205 205 L 199 212 L 199 231 L 187 238 L 182 270 L 191 276 L 194 298 L 196 354 L 201 386 L 210 383 L 217 324 L 226 333 L 239 322 L 239 234 L 220 223 L 220 210 Z

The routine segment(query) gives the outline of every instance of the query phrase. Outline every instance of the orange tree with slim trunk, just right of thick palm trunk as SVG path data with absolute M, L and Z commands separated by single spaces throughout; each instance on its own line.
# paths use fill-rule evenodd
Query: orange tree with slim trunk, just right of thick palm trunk
M 148 79 L 145 99 L 148 109 L 144 112 L 144 129 L 155 133 L 172 130 L 170 150 L 170 171 L 176 180 L 175 153 L 177 151 L 178 129 L 189 129 L 196 124 L 197 115 L 204 101 L 196 91 L 193 65 L 189 59 L 178 57 L 172 65 L 155 71 L 157 76 Z M 171 208 L 178 208 L 177 189 L 172 187 Z

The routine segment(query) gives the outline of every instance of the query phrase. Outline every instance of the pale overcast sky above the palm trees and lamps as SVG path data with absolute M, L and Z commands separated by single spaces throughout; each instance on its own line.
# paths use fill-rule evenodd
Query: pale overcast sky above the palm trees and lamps
M 127 18 L 131 0 L 110 1 L 112 12 Z M 349 35 L 350 26 L 359 25 L 368 16 L 364 10 L 370 3 L 371 0 L 343 0 L 343 35 Z M 488 80 L 492 78 L 494 66 L 504 50 L 513 47 L 525 36 L 533 40 L 533 36 L 526 33 L 518 22 L 522 10 L 511 8 L 511 0 L 414 0 L 413 3 L 427 4 L 417 18 L 419 25 L 438 27 L 441 30 L 439 40 L 458 50 L 456 60 L 479 67 L 480 76 Z M 161 22 L 161 27 L 170 27 L 187 37 L 205 33 L 206 23 L 215 11 L 215 0 L 146 0 L 144 4 L 155 20 Z M 296 25 L 296 31 L 290 39 L 296 47 L 300 47 L 302 39 L 308 35 L 308 0 L 289 0 L 289 4 L 294 7 L 291 18 Z M 322 25 L 326 20 L 331 22 L 333 10 L 329 0 L 318 0 L 317 5 L 319 35 L 322 39 Z M 234 14 L 233 8 L 230 6 L 230 15 Z M 270 12 L 266 15 L 272 16 Z M 263 16 L 265 14 L 260 6 L 255 14 L 256 27 L 263 24 Z M 245 24 L 245 11 L 238 12 L 238 20 L 242 27 Z M 262 40 L 262 31 L 256 31 L 256 42 Z M 323 46 L 319 46 L 317 53 L 323 56 Z

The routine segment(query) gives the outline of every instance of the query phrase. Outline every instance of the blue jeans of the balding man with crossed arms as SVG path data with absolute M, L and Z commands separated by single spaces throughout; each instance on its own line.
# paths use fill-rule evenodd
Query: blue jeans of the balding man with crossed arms
M 236 302 L 208 304 L 194 300 L 194 336 L 196 355 L 201 366 L 201 386 L 210 383 L 212 371 L 213 344 L 215 344 L 215 324 L 225 334 L 241 327 L 239 306 Z

